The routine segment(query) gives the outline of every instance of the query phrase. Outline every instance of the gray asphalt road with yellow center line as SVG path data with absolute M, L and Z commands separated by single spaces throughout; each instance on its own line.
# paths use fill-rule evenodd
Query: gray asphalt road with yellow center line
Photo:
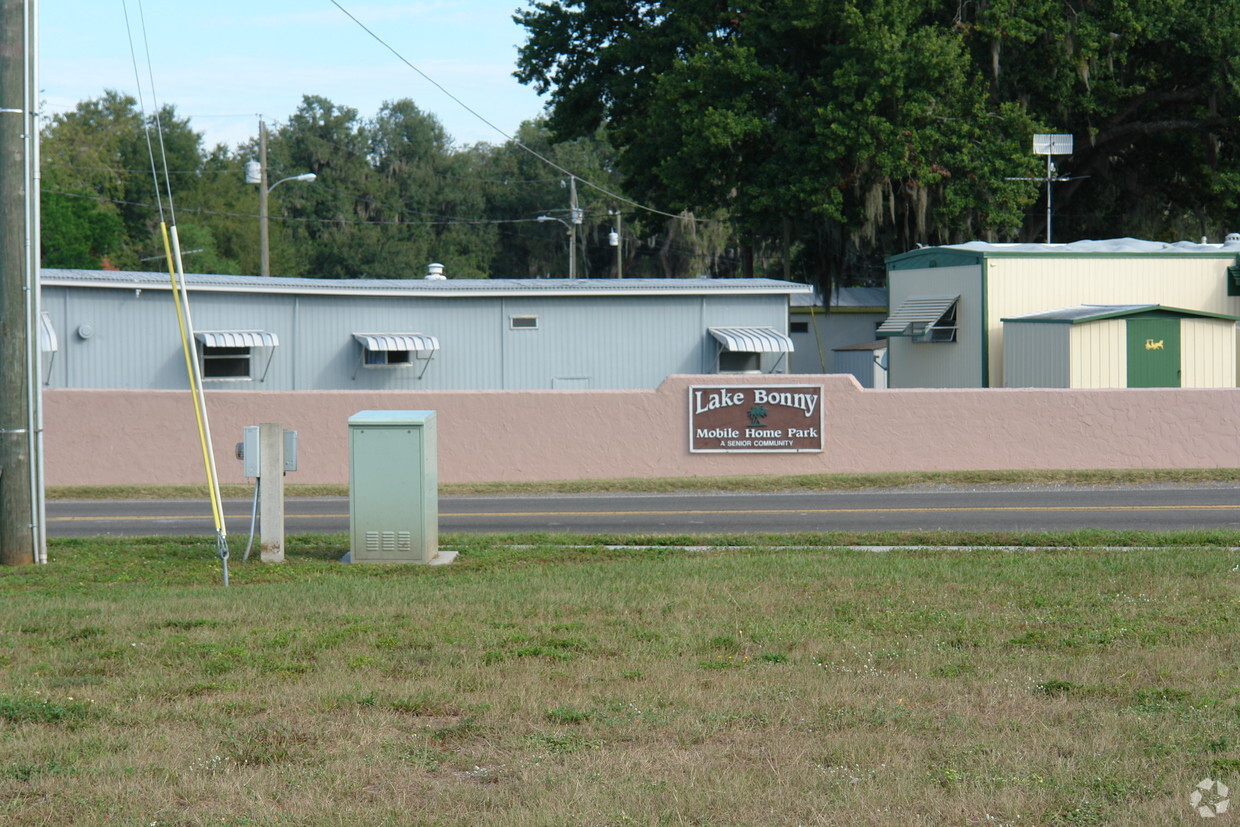
M 224 502 L 247 534 L 250 501 Z M 212 534 L 206 501 L 51 501 L 50 537 Z M 1182 531 L 1240 528 L 1240 486 L 980 486 L 812 493 L 440 497 L 440 532 Z M 285 532 L 348 531 L 345 497 L 289 498 Z

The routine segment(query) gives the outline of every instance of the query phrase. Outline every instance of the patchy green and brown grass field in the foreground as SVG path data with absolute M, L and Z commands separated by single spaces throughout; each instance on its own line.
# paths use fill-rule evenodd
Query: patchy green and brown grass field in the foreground
M 55 542 L 0 569 L 0 822 L 1195 825 L 1240 789 L 1240 536 L 867 539 L 928 538 L 300 537 L 227 589 L 201 539 Z

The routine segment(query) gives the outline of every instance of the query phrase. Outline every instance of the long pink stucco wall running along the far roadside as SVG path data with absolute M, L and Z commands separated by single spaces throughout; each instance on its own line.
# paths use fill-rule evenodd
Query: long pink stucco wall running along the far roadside
M 348 481 L 347 419 L 435 410 L 443 482 L 906 470 L 1238 467 L 1240 389 L 868 391 L 851 376 L 673 376 L 655 391 L 207 393 L 223 482 L 244 425 L 299 431 L 289 482 Z M 691 384 L 822 384 L 821 454 L 689 454 Z M 52 389 L 48 485 L 198 482 L 184 391 Z

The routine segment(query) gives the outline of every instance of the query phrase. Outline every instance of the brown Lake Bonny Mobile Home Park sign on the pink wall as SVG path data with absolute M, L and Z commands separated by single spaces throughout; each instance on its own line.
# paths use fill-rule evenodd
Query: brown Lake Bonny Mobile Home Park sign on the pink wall
M 693 386 L 689 451 L 810 453 L 822 450 L 822 386 Z

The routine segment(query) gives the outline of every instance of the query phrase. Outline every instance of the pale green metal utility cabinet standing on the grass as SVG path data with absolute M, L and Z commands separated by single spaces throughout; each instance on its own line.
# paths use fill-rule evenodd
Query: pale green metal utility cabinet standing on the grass
M 348 418 L 350 562 L 438 562 L 436 430 L 434 410 Z

